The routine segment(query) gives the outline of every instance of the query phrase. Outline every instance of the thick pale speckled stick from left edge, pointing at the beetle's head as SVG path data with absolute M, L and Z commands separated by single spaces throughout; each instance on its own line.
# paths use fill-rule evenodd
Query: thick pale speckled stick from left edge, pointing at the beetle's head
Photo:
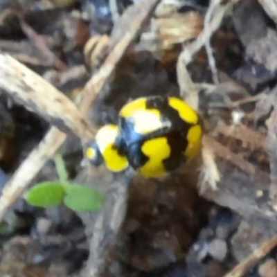
M 60 129 L 92 139 L 95 130 L 89 120 L 62 92 L 13 57 L 0 54 L 0 87 L 26 109 Z

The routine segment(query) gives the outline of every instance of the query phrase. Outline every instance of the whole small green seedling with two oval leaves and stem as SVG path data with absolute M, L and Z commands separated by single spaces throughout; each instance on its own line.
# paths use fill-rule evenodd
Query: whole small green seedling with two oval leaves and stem
M 55 156 L 59 181 L 45 181 L 30 188 L 24 195 L 26 202 L 38 207 L 51 207 L 64 203 L 73 211 L 95 211 L 102 207 L 103 197 L 97 190 L 80 184 L 71 184 L 60 154 Z

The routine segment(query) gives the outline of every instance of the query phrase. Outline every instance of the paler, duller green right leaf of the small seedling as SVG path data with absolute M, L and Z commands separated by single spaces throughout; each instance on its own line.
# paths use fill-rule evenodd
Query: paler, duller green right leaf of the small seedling
M 65 189 L 64 204 L 73 211 L 95 211 L 102 207 L 104 198 L 93 188 L 71 184 L 66 186 Z

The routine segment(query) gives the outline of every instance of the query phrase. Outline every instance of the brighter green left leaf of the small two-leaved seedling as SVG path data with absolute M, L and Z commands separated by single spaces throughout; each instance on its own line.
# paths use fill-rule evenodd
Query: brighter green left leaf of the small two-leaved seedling
M 62 184 L 46 181 L 30 188 L 24 197 L 29 204 L 46 208 L 61 204 L 64 194 Z

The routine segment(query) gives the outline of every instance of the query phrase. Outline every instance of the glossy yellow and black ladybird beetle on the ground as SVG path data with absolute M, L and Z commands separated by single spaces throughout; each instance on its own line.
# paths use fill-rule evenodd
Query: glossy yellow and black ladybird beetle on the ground
M 101 154 L 112 171 L 132 166 L 144 177 L 161 177 L 193 159 L 201 141 L 202 124 L 196 111 L 179 98 L 151 96 L 123 106 L 118 127 L 102 127 L 87 157 L 97 165 Z

